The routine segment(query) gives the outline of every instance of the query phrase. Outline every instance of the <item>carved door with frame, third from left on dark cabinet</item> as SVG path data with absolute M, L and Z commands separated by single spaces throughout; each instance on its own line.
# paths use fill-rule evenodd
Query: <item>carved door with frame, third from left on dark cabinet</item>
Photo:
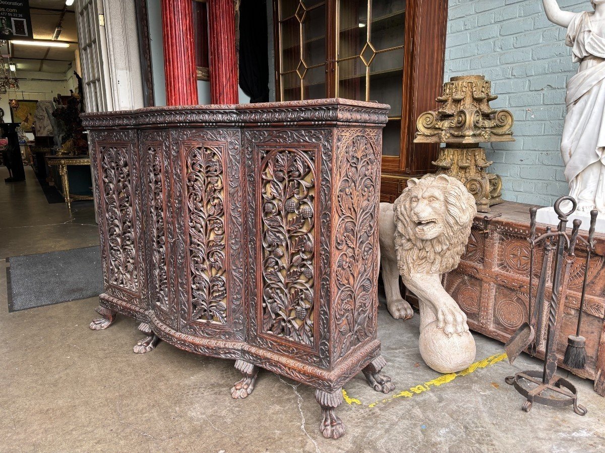
M 170 130 L 179 329 L 244 339 L 240 129 Z

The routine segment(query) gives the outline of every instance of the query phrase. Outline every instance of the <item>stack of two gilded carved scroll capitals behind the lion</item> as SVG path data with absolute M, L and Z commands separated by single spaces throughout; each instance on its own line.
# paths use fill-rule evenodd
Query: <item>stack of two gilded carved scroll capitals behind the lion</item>
M 443 84 L 443 94 L 436 99 L 439 108 L 424 112 L 416 122 L 414 143 L 445 143 L 440 148 L 437 174 L 452 176 L 465 184 L 477 201 L 477 211 L 502 202 L 502 179 L 485 169 L 492 164 L 479 143 L 514 141 L 508 110 L 494 110 L 489 102 L 491 82 L 483 76 L 452 77 Z

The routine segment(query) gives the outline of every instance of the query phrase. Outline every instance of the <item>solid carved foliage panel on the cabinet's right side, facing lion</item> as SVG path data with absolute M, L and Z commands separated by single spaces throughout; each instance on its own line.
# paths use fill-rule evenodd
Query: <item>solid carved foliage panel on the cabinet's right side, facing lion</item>
M 341 129 L 338 140 L 332 220 L 336 360 L 375 334 L 381 135 Z

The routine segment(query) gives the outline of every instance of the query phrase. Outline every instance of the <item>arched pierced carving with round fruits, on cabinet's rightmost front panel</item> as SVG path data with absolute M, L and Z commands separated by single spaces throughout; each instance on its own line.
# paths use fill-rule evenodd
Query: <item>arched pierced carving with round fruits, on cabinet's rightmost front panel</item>
M 295 150 L 276 150 L 261 178 L 263 330 L 313 345 L 313 163 Z

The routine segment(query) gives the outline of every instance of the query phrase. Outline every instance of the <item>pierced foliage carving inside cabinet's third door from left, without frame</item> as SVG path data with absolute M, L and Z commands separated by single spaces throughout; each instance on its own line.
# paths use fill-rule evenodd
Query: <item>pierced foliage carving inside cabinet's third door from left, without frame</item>
M 186 219 L 191 263 L 191 319 L 226 324 L 227 288 L 223 151 L 200 146 L 186 155 Z

